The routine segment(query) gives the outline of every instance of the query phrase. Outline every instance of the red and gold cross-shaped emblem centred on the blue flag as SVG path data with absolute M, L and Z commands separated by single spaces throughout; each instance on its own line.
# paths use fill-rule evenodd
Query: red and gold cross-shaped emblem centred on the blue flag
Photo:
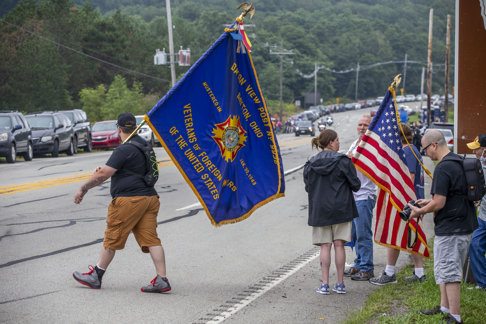
M 226 162 L 233 162 L 236 154 L 244 146 L 246 142 L 246 134 L 243 129 L 240 118 L 231 115 L 221 124 L 215 124 L 216 128 L 213 128 L 212 133 L 214 140 L 221 150 L 221 156 L 226 159 Z

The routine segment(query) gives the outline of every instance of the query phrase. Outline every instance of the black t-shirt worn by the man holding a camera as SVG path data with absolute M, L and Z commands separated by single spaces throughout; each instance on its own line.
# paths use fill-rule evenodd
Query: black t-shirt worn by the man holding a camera
M 449 153 L 446 156 L 455 153 Z M 446 204 L 435 212 L 436 236 L 465 235 L 478 228 L 474 203 L 457 195 L 467 195 L 467 182 L 462 162 L 441 161 L 434 170 L 431 194 L 446 197 Z

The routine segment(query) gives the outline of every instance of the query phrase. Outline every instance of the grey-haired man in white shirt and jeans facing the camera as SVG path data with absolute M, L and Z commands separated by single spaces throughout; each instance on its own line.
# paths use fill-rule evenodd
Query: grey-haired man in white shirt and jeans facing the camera
M 371 117 L 364 115 L 358 121 L 358 139 L 351 144 L 347 156 L 352 157 L 358 149 L 364 134 L 371 123 Z M 352 280 L 369 280 L 374 277 L 373 265 L 373 232 L 371 231 L 371 220 L 373 218 L 373 208 L 376 205 L 377 187 L 373 181 L 369 180 L 363 173 L 356 171 L 361 181 L 361 188 L 358 192 L 353 192 L 356 206 L 360 217 L 355 218 L 352 223 L 351 238 L 356 245 L 356 259 L 354 266 L 344 272 L 345 276 L 350 276 Z

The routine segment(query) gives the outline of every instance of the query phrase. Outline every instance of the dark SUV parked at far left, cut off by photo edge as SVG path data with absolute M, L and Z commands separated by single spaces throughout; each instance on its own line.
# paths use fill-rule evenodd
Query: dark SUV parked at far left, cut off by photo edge
M 22 113 L 0 111 L 0 156 L 8 163 L 15 163 L 18 153 L 23 153 L 26 161 L 34 156 L 32 131 Z

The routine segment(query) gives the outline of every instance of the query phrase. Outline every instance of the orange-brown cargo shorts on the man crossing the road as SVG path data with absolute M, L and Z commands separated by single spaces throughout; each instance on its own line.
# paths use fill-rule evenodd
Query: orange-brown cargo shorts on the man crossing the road
M 143 253 L 149 246 L 162 245 L 157 237 L 159 196 L 117 197 L 108 206 L 103 246 L 122 250 L 130 232 L 133 233 Z

